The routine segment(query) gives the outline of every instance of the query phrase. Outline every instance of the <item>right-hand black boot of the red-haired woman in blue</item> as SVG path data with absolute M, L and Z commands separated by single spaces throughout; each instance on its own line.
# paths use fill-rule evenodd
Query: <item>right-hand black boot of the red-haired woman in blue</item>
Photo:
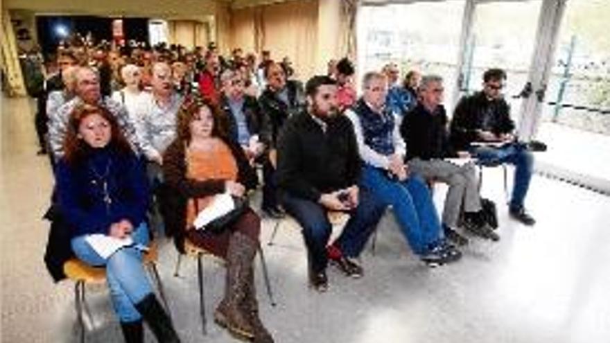
M 157 301 L 155 294 L 148 294 L 135 307 L 155 334 L 157 342 L 180 343 L 180 338 L 178 338 L 171 320 Z

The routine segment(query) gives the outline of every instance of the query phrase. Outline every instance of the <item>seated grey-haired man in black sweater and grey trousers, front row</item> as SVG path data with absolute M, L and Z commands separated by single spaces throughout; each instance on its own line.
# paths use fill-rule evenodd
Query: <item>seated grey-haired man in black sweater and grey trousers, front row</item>
M 442 223 L 444 234 L 454 243 L 464 245 L 468 240 L 458 234 L 460 215 L 462 226 L 491 240 L 500 237 L 485 222 L 475 166 L 469 162 L 458 166 L 445 158 L 458 157 L 448 137 L 448 119 L 443 100 L 443 79 L 428 75 L 421 79 L 419 103 L 405 116 L 401 124 L 401 135 L 408 147 L 409 170 L 424 179 L 444 182 L 449 185 L 445 197 Z M 468 152 L 459 156 L 469 157 Z

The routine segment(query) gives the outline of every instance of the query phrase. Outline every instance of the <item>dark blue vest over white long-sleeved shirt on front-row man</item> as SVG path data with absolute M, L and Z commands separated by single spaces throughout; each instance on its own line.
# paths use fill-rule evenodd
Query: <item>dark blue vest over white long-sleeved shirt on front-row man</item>
M 394 154 L 394 143 L 392 134 L 394 133 L 394 115 L 387 107 L 380 115 L 370 109 L 363 99 L 358 100 L 354 105 L 354 112 L 360 118 L 364 141 L 369 148 L 381 155 L 389 156 Z

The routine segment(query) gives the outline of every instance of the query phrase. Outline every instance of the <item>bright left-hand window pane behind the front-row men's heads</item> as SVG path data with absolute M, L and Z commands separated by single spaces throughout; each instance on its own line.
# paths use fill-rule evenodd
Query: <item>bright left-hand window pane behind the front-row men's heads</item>
M 358 67 L 381 70 L 395 62 L 445 79 L 445 103 L 453 103 L 464 0 L 363 6 L 358 15 Z

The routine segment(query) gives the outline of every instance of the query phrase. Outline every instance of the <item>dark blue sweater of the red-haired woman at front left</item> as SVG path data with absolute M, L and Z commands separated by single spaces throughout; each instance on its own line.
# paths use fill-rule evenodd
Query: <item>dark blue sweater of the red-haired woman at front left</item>
M 146 216 L 149 193 L 142 162 L 112 146 L 91 149 L 83 161 L 57 168 L 58 202 L 71 237 L 109 234 L 122 219 L 137 227 Z

